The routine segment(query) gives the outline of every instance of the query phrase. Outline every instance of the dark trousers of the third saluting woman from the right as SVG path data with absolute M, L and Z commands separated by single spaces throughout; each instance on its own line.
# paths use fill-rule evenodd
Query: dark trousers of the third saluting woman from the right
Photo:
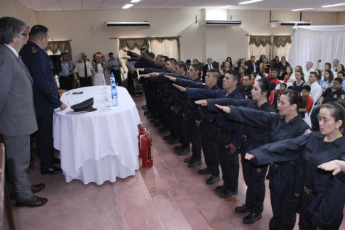
M 258 165 L 253 165 L 246 160 L 245 153 L 241 153 L 241 163 L 244 182 L 247 185 L 246 207 L 253 213 L 263 212 L 263 201 L 265 200 L 265 175 L 268 166 L 261 167 L 261 172 L 257 172 Z

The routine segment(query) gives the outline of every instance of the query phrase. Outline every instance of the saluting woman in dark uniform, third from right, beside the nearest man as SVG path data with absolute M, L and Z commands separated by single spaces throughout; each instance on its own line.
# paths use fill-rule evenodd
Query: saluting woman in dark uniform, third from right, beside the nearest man
M 267 78 L 258 80 L 254 84 L 251 94 L 253 95 L 253 101 L 248 99 L 206 99 L 197 102 L 197 104 L 207 106 L 208 111 L 217 111 L 218 109 L 215 107 L 215 104 L 219 104 L 243 106 L 258 111 L 275 112 L 275 109 L 269 102 L 270 81 Z M 262 218 L 261 213 L 263 212 L 263 201 L 265 199 L 265 175 L 268 169 L 268 165 L 260 165 L 258 167 L 253 165 L 250 161 L 245 160 L 245 154 L 248 153 L 249 150 L 269 143 L 269 136 L 270 131 L 267 128 L 243 124 L 240 153 L 244 182 L 246 182 L 248 188 L 246 192 L 246 203 L 240 207 L 236 207 L 235 212 L 239 214 L 251 212 L 247 217 L 244 217 L 244 224 L 253 224 L 258 219 Z

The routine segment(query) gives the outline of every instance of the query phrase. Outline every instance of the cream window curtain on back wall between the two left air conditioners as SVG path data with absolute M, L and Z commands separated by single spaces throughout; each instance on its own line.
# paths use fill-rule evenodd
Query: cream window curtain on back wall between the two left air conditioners
M 150 40 L 151 52 L 155 55 L 161 54 L 166 55 L 170 58 L 175 58 L 179 60 L 179 49 L 177 45 L 177 40 L 164 39 L 162 41 L 153 39 Z

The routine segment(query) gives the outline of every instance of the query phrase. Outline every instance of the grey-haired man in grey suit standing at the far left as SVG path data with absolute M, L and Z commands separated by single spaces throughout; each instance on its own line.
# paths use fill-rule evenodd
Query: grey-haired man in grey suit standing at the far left
M 0 133 L 6 144 L 6 168 L 16 192 L 17 206 L 39 207 L 48 199 L 36 197 L 45 185 L 30 185 L 30 135 L 37 130 L 33 80 L 16 49 L 27 34 L 25 23 L 0 18 Z

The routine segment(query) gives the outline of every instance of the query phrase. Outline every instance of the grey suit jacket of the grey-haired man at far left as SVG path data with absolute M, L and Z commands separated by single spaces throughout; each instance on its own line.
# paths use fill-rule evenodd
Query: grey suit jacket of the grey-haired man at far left
M 13 51 L 0 45 L 0 133 L 24 136 L 35 131 L 33 80 Z

